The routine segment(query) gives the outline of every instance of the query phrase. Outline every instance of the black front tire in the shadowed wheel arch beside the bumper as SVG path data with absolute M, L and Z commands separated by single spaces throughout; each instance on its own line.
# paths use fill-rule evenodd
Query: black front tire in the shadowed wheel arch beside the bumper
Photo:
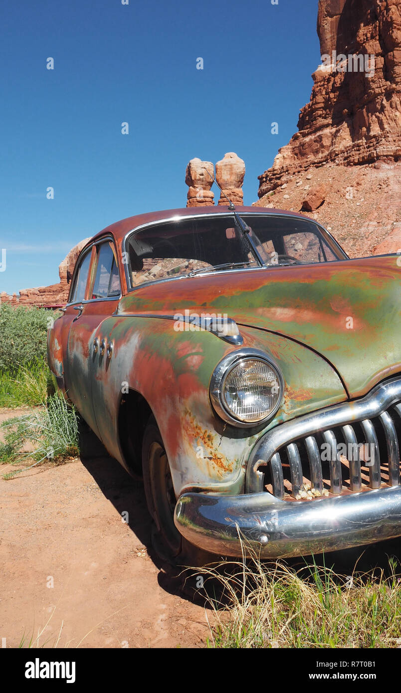
M 176 495 L 169 460 L 155 417 L 149 419 L 142 442 L 142 471 L 148 511 L 153 519 L 152 544 L 172 565 L 205 565 L 213 557 L 193 546 L 174 524 Z

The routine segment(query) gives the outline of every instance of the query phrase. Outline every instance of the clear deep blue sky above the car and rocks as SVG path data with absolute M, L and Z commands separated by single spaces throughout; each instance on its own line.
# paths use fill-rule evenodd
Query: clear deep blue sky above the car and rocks
M 296 132 L 317 0 L 128 2 L 2 3 L 0 291 L 57 282 L 69 249 L 114 221 L 185 207 L 193 157 L 237 152 L 252 204 Z

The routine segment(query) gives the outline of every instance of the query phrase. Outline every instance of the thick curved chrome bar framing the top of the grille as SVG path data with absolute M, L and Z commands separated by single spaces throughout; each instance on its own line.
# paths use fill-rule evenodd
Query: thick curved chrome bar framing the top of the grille
M 354 421 L 379 416 L 396 403 L 395 408 L 401 415 L 401 405 L 398 405 L 400 399 L 401 377 L 397 376 L 386 383 L 379 383 L 364 398 L 336 404 L 276 426 L 257 441 L 250 453 L 246 468 L 246 493 L 260 493 L 262 491 L 263 475 L 257 471 L 260 459 L 268 462 L 280 448 L 299 438 L 305 438 L 337 426 L 352 424 Z

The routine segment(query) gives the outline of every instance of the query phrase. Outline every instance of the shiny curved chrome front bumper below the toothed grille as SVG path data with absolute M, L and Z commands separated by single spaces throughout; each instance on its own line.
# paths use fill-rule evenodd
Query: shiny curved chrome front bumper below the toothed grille
M 317 554 L 401 535 L 401 486 L 311 501 L 270 493 L 223 496 L 185 493 L 176 527 L 213 554 L 241 556 L 241 541 L 262 558 Z

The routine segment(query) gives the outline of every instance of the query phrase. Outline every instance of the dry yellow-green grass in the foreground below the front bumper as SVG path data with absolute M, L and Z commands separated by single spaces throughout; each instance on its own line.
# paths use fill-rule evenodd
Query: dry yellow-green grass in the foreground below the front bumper
M 389 559 L 390 577 L 356 568 L 343 577 L 312 556 L 297 570 L 248 550 L 242 560 L 196 569 L 213 593 L 209 647 L 401 647 L 397 561 Z

